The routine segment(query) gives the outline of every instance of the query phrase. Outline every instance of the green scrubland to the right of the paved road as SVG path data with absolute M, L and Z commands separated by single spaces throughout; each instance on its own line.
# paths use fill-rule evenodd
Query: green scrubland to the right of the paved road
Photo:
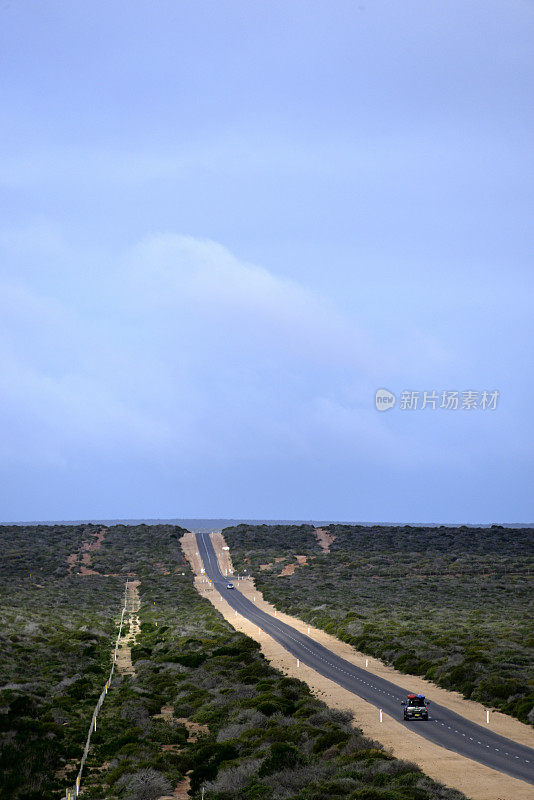
M 532 529 L 324 530 L 335 537 L 328 554 L 309 525 L 239 525 L 223 534 L 236 569 L 252 573 L 281 610 L 534 723 Z M 295 554 L 308 563 L 281 577 Z

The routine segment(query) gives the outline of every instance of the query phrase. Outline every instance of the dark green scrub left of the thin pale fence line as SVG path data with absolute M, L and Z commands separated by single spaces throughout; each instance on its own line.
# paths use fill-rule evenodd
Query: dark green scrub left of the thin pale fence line
M 96 529 L 95 529 L 96 530 Z M 69 575 L 91 526 L 0 529 L 0 797 L 57 797 L 107 679 L 120 578 Z

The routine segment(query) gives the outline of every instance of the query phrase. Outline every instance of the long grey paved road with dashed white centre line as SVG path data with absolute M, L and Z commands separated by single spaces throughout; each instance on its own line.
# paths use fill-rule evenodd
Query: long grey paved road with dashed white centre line
M 223 595 L 232 608 L 258 625 L 265 633 L 272 636 L 285 649 L 299 658 L 303 664 L 312 667 L 326 678 L 335 681 L 344 689 L 367 700 L 384 714 L 393 717 L 411 731 L 419 733 L 426 739 L 472 758 L 488 767 L 505 772 L 514 778 L 534 783 L 534 750 L 516 744 L 493 733 L 491 729 L 461 717 L 454 711 L 430 703 L 430 719 L 428 722 L 404 722 L 401 702 L 408 692 L 417 692 L 417 686 L 398 687 L 394 683 L 379 678 L 365 669 L 351 664 L 344 658 L 335 655 L 323 645 L 309 636 L 300 633 L 290 625 L 286 625 L 276 617 L 261 611 L 237 589 L 226 588 L 228 582 L 220 569 L 209 534 L 197 533 L 198 550 L 202 557 L 206 574 L 213 581 L 215 588 Z M 430 698 L 432 701 L 432 698 Z

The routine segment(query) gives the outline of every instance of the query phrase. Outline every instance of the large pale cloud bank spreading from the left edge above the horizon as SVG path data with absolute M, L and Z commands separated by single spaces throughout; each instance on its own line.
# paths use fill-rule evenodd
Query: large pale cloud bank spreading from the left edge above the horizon
M 152 235 L 95 270 L 39 230 L 0 237 L 24 241 L 30 262 L 59 254 L 39 281 L 4 282 L 4 459 L 394 462 L 436 450 L 372 410 L 391 353 L 319 293 L 208 239 Z M 61 281 L 70 271 L 78 296 Z M 35 289 L 47 282 L 52 296 Z

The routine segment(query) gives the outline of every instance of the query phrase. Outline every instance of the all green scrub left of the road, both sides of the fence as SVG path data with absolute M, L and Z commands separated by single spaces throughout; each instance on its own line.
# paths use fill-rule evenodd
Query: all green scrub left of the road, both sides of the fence
M 100 712 L 87 800 L 175 787 L 206 800 L 461 800 L 272 668 L 194 589 L 180 528 L 105 529 L 91 573 L 69 574 L 69 555 L 98 530 L 0 528 L 2 800 L 59 800 L 71 785 L 134 572 L 135 674 L 115 673 Z

